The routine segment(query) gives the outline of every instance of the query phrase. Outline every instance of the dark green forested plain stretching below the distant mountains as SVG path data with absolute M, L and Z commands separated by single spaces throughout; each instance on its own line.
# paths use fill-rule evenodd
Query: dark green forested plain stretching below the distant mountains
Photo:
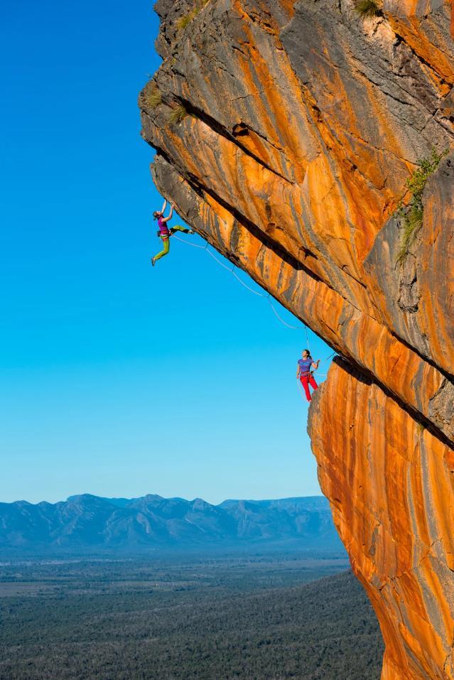
M 4 563 L 0 678 L 379 680 L 377 620 L 346 567 L 294 555 Z

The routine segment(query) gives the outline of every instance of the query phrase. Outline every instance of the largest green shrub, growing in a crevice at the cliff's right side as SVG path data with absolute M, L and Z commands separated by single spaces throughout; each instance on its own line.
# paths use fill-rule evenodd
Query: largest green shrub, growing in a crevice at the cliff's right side
M 423 192 L 426 188 L 428 178 L 436 171 L 443 158 L 448 154 L 449 149 L 437 153 L 435 148 L 428 158 L 423 158 L 417 162 L 418 168 L 406 180 L 406 188 L 411 193 L 408 210 L 400 207 L 399 212 L 404 220 L 404 233 L 402 234 L 401 247 L 397 254 L 396 261 L 403 264 L 409 252 L 409 247 L 414 242 L 416 234 L 423 225 Z

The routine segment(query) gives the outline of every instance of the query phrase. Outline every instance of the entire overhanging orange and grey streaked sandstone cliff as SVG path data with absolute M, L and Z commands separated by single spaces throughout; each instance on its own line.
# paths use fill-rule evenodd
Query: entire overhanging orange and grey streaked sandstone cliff
M 309 431 L 382 677 L 454 679 L 453 155 L 399 264 L 396 214 L 418 159 L 454 148 L 450 3 L 156 9 L 163 64 L 139 97 L 154 181 L 342 357 Z

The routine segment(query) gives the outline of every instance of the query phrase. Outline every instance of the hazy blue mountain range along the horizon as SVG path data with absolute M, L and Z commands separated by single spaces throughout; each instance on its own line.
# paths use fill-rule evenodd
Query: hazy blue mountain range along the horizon
M 83 494 L 55 504 L 0 503 L 0 549 L 137 551 L 252 542 L 341 549 L 322 496 L 212 505 L 201 498 Z

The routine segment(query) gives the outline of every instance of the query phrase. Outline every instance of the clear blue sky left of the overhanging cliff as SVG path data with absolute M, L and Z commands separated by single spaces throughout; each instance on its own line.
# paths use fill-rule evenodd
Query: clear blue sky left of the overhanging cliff
M 304 334 L 202 251 L 173 242 L 149 264 L 151 2 L 1 14 L 0 500 L 319 493 Z

